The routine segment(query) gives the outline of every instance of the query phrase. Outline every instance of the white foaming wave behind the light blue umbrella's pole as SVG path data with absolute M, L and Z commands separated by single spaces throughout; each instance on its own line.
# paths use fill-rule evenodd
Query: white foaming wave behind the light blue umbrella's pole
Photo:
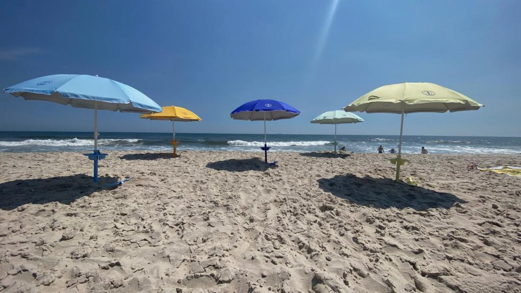
M 100 145 L 111 145 L 116 142 L 135 143 L 140 139 L 98 139 Z M 22 141 L 0 141 L 0 146 L 24 146 L 24 145 L 46 145 L 46 146 L 90 146 L 94 139 L 26 139 Z

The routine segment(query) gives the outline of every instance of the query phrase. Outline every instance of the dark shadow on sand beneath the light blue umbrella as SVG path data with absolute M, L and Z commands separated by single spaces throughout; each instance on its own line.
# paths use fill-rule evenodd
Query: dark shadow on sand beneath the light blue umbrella
M 101 176 L 98 177 L 98 184 L 95 184 L 91 176 L 77 174 L 2 182 L 0 183 L 0 209 L 9 211 L 27 203 L 69 204 L 117 181 L 116 177 Z

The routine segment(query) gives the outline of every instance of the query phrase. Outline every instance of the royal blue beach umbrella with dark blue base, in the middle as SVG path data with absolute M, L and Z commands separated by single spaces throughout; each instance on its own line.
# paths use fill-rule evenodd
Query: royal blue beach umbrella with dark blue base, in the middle
M 234 109 L 230 117 L 237 120 L 264 120 L 264 162 L 268 163 L 268 148 L 266 144 L 266 120 L 289 119 L 298 116 L 300 111 L 292 106 L 275 100 L 255 100 L 247 102 Z

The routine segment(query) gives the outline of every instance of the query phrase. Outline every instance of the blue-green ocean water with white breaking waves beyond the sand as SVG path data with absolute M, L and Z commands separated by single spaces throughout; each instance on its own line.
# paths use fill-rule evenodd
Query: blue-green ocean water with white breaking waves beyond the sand
M 89 152 L 92 132 L 0 131 L 0 152 Z M 170 151 L 171 133 L 103 132 L 98 149 Z M 176 133 L 179 151 L 259 151 L 263 135 L 225 133 Z M 333 135 L 268 135 L 273 151 L 330 151 Z M 398 136 L 339 135 L 340 146 L 357 153 L 375 153 L 379 145 L 398 150 Z M 404 136 L 404 153 L 419 153 L 421 146 L 432 154 L 521 154 L 518 137 Z

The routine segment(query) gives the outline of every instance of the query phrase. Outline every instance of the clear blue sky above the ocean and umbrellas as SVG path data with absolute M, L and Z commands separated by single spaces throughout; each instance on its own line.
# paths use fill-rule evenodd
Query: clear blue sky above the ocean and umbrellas
M 229 113 L 256 99 L 302 114 L 268 131 L 325 133 L 309 123 L 384 84 L 426 81 L 485 104 L 410 114 L 405 135 L 521 136 L 521 1 L 4 1 L 0 87 L 90 74 L 203 118 L 180 132 L 261 133 Z M 92 131 L 93 111 L 1 93 L 0 130 Z M 398 135 L 400 116 L 359 114 L 342 134 Z M 103 131 L 171 131 L 164 121 L 101 111 Z

